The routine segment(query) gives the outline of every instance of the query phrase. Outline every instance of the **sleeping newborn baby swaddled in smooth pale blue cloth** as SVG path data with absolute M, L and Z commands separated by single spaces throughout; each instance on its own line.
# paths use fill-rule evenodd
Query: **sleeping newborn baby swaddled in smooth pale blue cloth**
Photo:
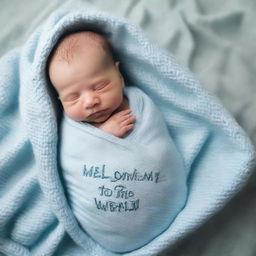
M 137 249 L 166 230 L 186 200 L 186 173 L 161 113 L 125 85 L 102 35 L 62 38 L 48 65 L 62 103 L 60 166 L 80 226 L 108 250 Z

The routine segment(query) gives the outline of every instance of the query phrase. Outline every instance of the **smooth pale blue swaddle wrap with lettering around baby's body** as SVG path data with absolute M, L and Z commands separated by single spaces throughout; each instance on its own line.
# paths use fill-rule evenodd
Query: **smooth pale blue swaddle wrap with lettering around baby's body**
M 83 229 L 115 252 L 137 249 L 168 228 L 185 204 L 185 168 L 150 98 L 126 86 L 134 129 L 125 138 L 64 116 L 60 165 Z

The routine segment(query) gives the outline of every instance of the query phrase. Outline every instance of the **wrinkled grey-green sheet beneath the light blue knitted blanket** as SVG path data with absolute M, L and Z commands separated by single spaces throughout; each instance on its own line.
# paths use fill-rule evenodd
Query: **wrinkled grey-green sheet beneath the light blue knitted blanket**
M 23 43 L 62 2 L 37 1 L 31 5 L 31 1 L 24 0 L 3 1 L 1 54 Z M 66 6 L 82 6 L 85 2 L 66 1 Z M 162 1 L 161 5 L 158 1 L 119 1 L 118 7 L 110 0 L 90 2 L 137 23 L 153 40 L 170 50 L 221 98 L 255 143 L 253 0 L 243 5 L 235 0 Z M 174 255 L 254 255 L 255 198 L 252 180 L 233 202 L 174 249 Z

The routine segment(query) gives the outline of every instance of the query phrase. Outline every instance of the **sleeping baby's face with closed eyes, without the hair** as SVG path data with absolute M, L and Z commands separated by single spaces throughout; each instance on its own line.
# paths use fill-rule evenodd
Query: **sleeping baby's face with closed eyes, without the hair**
M 73 120 L 102 123 L 123 101 L 118 63 L 102 49 L 79 49 L 69 63 L 53 58 L 49 75 L 65 113 Z

